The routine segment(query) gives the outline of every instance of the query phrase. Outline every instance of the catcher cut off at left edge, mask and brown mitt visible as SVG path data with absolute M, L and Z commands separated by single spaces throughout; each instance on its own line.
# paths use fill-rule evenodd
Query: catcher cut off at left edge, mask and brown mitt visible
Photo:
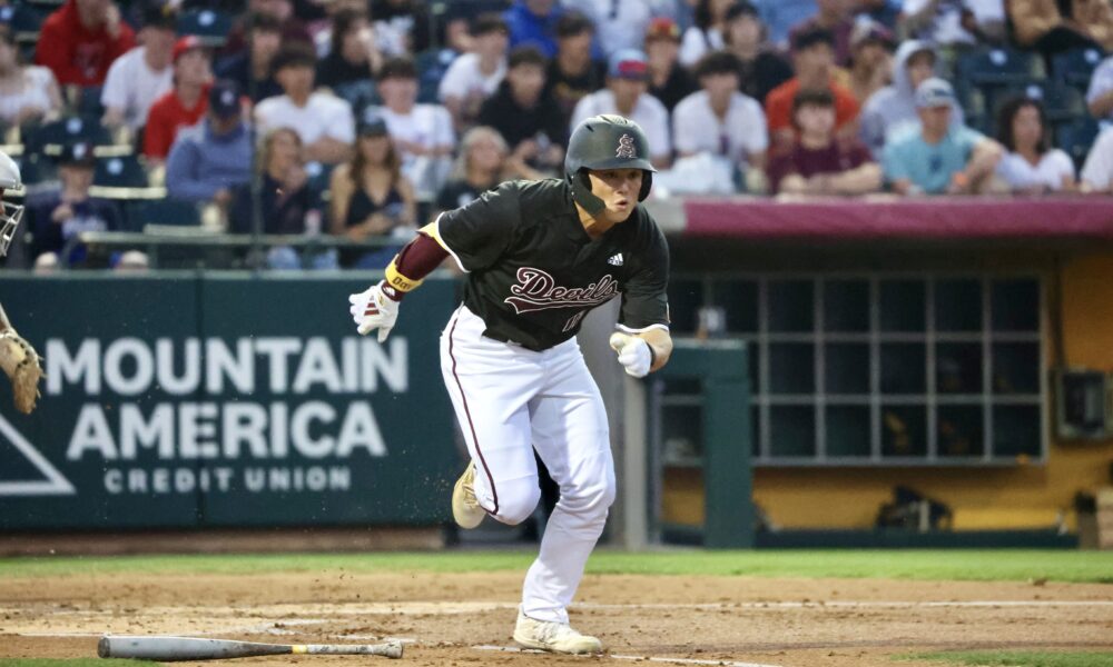
M 21 187 L 19 167 L 7 153 L 0 152 L 0 257 L 8 255 L 8 247 L 16 237 L 20 218 L 23 217 L 23 207 L 3 200 L 4 190 L 19 190 Z M 0 368 L 11 380 L 16 409 L 29 414 L 35 409 L 35 400 L 39 397 L 42 368 L 39 366 L 39 355 L 31 344 L 16 332 L 3 306 L 0 306 Z

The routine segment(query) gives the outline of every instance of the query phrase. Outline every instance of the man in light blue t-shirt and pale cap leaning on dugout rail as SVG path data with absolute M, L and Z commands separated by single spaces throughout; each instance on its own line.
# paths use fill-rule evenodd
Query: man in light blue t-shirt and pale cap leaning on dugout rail
M 955 91 L 932 77 L 916 88 L 919 125 L 885 142 L 885 179 L 899 195 L 967 195 L 987 191 L 1004 155 L 999 143 L 952 123 Z

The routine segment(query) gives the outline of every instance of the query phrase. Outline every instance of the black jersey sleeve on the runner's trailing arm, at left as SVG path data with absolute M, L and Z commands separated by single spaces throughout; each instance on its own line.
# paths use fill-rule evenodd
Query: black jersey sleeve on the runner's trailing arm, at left
M 510 246 L 521 219 L 519 190 L 513 181 L 437 219 L 437 232 L 464 270 L 490 267 Z

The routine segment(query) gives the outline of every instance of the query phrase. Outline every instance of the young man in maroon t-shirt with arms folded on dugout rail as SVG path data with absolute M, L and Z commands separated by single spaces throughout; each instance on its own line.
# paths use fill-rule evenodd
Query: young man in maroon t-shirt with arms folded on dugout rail
M 769 163 L 774 192 L 794 195 L 865 195 L 881 188 L 881 168 L 855 139 L 835 137 L 835 96 L 801 90 L 792 100 L 792 123 L 800 136 Z

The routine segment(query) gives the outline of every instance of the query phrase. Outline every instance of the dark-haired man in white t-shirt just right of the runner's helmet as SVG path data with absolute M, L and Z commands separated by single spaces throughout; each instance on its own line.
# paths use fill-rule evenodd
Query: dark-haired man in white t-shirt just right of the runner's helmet
M 741 170 L 760 168 L 769 147 L 765 112 L 754 98 L 738 92 L 740 63 L 727 51 L 711 51 L 696 63 L 702 90 L 672 110 L 672 138 L 680 157 L 708 152 Z

